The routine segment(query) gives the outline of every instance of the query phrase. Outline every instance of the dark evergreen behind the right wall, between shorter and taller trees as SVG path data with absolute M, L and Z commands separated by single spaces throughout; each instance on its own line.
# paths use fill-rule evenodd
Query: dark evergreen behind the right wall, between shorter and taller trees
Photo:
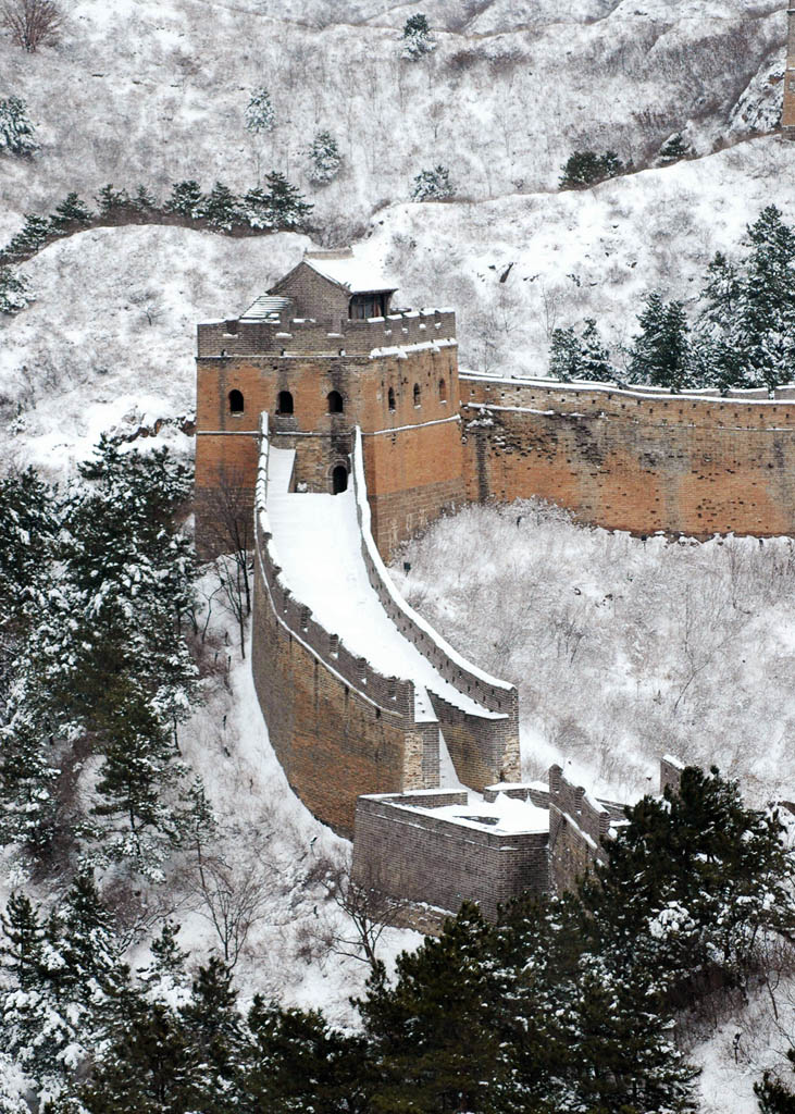
M 681 391 L 690 383 L 690 326 L 683 304 L 666 304 L 657 293 L 647 294 L 645 301 L 638 315 L 640 333 L 630 353 L 630 379 Z

